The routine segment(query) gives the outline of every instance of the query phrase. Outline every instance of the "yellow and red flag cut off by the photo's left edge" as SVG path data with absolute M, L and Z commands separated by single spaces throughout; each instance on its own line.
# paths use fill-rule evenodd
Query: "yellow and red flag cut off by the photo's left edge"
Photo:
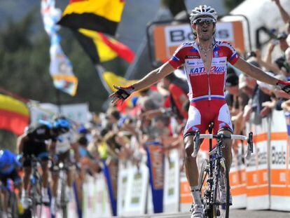
M 29 123 L 29 109 L 25 103 L 0 94 L 0 129 L 21 135 Z

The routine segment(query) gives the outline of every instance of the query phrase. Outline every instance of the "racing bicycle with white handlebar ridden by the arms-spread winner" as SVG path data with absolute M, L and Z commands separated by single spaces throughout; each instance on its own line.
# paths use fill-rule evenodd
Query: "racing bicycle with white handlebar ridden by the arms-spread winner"
M 200 139 L 209 139 L 209 158 L 202 162 L 198 186 L 200 187 L 201 199 L 205 210 L 205 218 L 223 217 L 228 218 L 230 213 L 230 181 L 226 159 L 223 158 L 223 139 L 240 139 L 248 143 L 246 158 L 253 153 L 253 133 L 244 135 L 212 134 L 213 123 L 209 125 L 209 134 L 195 134 L 195 144 Z M 212 147 L 212 139 L 216 139 L 216 146 Z M 226 190 L 219 190 L 222 186 Z M 220 199 L 220 193 L 226 191 L 226 202 Z M 222 202 L 223 201 L 223 202 Z

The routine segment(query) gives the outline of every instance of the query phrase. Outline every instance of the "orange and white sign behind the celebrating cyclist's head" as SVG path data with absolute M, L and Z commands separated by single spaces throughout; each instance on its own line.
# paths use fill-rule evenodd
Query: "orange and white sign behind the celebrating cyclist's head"
M 228 41 L 237 50 L 244 52 L 244 32 L 242 22 L 218 22 L 216 40 Z M 153 29 L 156 61 L 165 62 L 177 47 L 186 41 L 193 41 L 191 25 L 156 25 Z

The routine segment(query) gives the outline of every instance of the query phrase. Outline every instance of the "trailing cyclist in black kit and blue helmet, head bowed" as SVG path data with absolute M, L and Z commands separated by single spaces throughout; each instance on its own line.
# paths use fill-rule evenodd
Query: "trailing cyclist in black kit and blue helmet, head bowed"
M 23 190 L 21 196 L 22 206 L 29 207 L 29 178 L 32 172 L 32 155 L 39 158 L 42 168 L 42 203 L 48 205 L 48 149 L 47 142 L 51 140 L 52 144 L 57 141 L 57 136 L 69 131 L 69 122 L 60 119 L 50 123 L 40 121 L 36 125 L 29 125 L 23 135 L 18 137 L 18 153 L 22 154 L 22 166 L 24 168 Z

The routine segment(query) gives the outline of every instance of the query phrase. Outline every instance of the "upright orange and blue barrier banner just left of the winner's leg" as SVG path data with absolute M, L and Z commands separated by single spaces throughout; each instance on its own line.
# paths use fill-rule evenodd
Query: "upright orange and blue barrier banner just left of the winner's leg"
M 154 213 L 163 212 L 164 154 L 161 149 L 162 144 L 160 142 L 146 142 Z

